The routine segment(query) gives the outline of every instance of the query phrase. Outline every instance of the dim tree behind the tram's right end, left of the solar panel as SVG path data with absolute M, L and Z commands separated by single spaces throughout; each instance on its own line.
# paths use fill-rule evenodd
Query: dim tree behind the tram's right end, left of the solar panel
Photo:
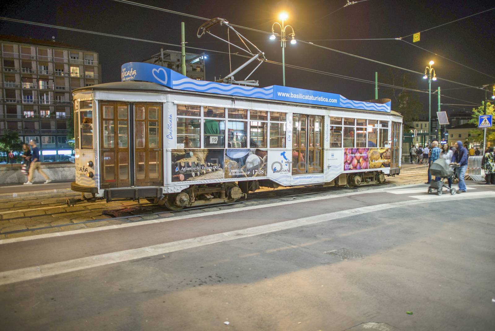
M 389 68 L 381 81 L 385 84 L 400 86 L 384 88 L 383 94 L 392 100 L 392 110 L 402 114 L 404 122 L 417 121 L 419 116 L 425 113 L 419 99 L 419 92 L 409 90 L 418 88 L 409 73 Z

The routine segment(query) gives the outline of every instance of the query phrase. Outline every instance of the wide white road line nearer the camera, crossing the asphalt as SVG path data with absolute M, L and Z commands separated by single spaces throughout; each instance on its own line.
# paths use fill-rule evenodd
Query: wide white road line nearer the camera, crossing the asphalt
M 477 193 L 482 193 L 482 195 L 476 195 L 476 196 L 468 195 L 468 194 L 463 194 L 458 196 L 455 195 L 452 196 L 452 199 L 465 200 L 472 198 L 479 199 L 479 198 L 495 197 L 495 192 L 477 192 Z M 444 198 L 445 197 L 432 196 L 430 199 L 431 201 L 441 201 Z M 41 266 L 4 271 L 0 273 L 0 285 L 28 281 L 28 280 L 33 280 L 48 276 L 54 276 L 54 275 L 68 273 L 71 271 L 78 271 L 78 270 L 84 270 L 88 268 L 94 268 L 94 267 L 99 267 L 113 263 L 125 262 L 125 261 L 170 253 L 173 251 L 178 251 L 188 248 L 196 248 L 200 246 L 217 244 L 226 241 L 231 241 L 234 239 L 258 236 L 266 233 L 293 229 L 304 225 L 311 225 L 311 224 L 331 221 L 347 216 L 355 216 L 356 214 L 364 214 L 368 212 L 390 209 L 394 207 L 404 207 L 404 206 L 409 207 L 411 205 L 422 204 L 422 203 L 423 201 L 421 200 L 415 200 L 408 202 L 407 205 L 404 205 L 404 202 L 401 201 L 401 202 L 393 202 L 388 204 L 380 204 L 375 206 L 352 208 L 352 209 L 335 211 L 322 215 L 293 219 L 290 221 L 255 226 L 242 230 L 235 230 L 235 231 L 218 233 L 209 236 L 185 239 L 172 243 L 153 245 L 143 248 L 127 249 L 113 253 L 83 257 L 79 259 L 50 263 Z

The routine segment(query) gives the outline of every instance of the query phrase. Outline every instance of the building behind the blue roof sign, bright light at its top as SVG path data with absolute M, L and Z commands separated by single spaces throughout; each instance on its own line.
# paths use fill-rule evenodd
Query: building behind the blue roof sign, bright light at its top
M 204 53 L 186 53 L 186 76 L 193 80 L 206 81 L 206 58 L 207 56 Z M 162 48 L 159 53 L 152 55 L 151 58 L 142 62 L 166 67 L 178 73 L 181 72 L 181 52 L 176 50 L 163 50 Z

